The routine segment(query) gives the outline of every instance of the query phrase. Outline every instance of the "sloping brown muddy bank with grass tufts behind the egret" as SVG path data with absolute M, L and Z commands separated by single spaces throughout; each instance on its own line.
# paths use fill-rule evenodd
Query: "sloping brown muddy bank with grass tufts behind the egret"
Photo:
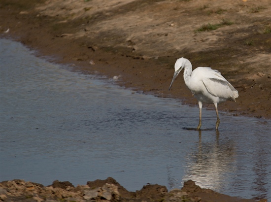
M 168 92 L 186 57 L 238 90 L 219 110 L 271 118 L 270 13 L 268 0 L 2 0 L 0 32 L 75 70 L 194 105 L 181 76 Z

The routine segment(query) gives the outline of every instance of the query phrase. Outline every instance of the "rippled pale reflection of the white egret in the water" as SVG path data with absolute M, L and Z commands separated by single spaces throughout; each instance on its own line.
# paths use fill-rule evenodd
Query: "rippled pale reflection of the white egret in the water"
M 221 140 L 218 130 L 215 133 L 201 130 L 198 132 L 197 147 L 186 155 L 187 163 L 182 182 L 191 179 L 202 188 L 221 191 L 227 186 L 225 182 L 229 182 L 225 177 L 235 170 L 235 144 L 229 139 Z M 202 133 L 211 134 L 211 139 L 202 140 Z

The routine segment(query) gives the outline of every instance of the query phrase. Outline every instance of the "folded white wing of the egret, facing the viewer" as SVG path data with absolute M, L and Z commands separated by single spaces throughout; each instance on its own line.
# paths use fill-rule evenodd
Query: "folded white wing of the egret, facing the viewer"
M 198 67 L 196 69 L 198 69 L 198 73 L 201 73 L 200 79 L 208 93 L 215 97 L 232 101 L 235 101 L 238 97 L 237 90 L 218 70 L 211 69 L 210 67 Z

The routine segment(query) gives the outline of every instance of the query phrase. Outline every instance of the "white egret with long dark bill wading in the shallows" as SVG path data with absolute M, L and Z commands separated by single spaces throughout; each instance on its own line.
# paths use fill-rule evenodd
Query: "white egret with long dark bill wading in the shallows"
M 177 59 L 169 90 L 173 81 L 183 68 L 185 85 L 199 102 L 200 120 L 196 130 L 200 130 L 202 126 L 203 103 L 214 104 L 216 111 L 215 130 L 218 130 L 220 119 L 218 116 L 217 105 L 225 101 L 236 101 L 236 98 L 238 98 L 238 91 L 218 70 L 212 69 L 211 67 L 197 67 L 192 71 L 191 62 L 185 58 Z

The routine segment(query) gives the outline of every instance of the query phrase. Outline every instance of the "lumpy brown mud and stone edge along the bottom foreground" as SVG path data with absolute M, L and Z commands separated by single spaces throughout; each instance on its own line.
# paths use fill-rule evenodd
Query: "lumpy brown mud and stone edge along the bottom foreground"
M 0 200 L 6 202 L 256 202 L 219 194 L 202 189 L 194 181 L 184 182 L 182 189 L 168 192 L 166 186 L 145 185 L 135 192 L 127 191 L 115 179 L 88 181 L 86 185 L 74 187 L 70 182 L 55 180 L 43 186 L 24 180 L 0 183 Z M 267 202 L 261 200 L 259 202 Z

